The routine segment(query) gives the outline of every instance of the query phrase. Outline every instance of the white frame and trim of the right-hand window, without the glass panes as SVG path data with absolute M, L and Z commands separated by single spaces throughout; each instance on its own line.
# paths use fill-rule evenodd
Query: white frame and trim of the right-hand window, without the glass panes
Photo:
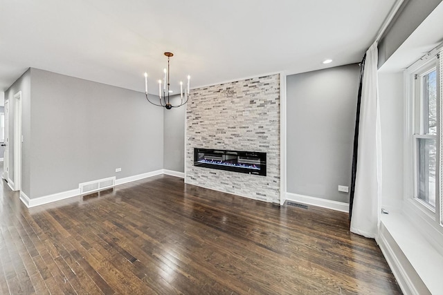
M 437 53 L 441 49 L 435 49 L 431 51 L 422 59 L 415 62 L 412 66 L 404 71 L 404 84 L 405 84 L 405 133 L 404 133 L 404 216 L 406 216 L 410 222 L 424 234 L 426 240 L 431 242 L 437 249 L 443 247 L 443 227 L 442 227 L 442 213 L 440 212 L 441 204 L 441 188 L 440 188 L 440 175 L 442 173 L 442 160 L 440 153 L 442 151 L 442 99 L 440 93 L 440 70 L 439 59 L 437 59 Z M 423 135 L 415 134 L 417 126 L 421 125 L 421 117 L 417 116 L 419 112 L 422 112 L 422 99 L 421 99 L 421 87 L 417 87 L 417 79 L 420 79 L 420 75 L 426 75 L 431 69 L 437 69 L 437 135 Z M 417 97 L 419 95 L 419 97 Z M 417 103 L 417 99 L 420 103 Z M 419 108 L 417 110 L 417 108 Z M 421 130 L 423 131 L 423 130 Z M 435 171 L 435 209 L 431 205 L 427 204 L 423 200 L 417 198 L 417 138 L 435 138 L 437 140 L 437 167 Z

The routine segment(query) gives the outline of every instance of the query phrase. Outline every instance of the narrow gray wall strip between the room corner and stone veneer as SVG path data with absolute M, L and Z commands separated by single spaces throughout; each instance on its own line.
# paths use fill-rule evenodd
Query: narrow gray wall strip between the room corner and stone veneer
M 180 104 L 180 97 L 171 97 L 172 104 Z M 192 98 L 191 98 L 192 99 Z M 163 117 L 163 167 L 164 169 L 185 171 L 185 116 L 186 106 L 164 109 Z

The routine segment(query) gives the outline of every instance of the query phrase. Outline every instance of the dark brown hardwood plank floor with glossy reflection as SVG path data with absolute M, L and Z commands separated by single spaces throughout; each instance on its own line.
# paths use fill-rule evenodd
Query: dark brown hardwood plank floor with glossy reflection
M 401 294 L 345 213 L 166 175 L 32 209 L 2 185 L 0 294 Z

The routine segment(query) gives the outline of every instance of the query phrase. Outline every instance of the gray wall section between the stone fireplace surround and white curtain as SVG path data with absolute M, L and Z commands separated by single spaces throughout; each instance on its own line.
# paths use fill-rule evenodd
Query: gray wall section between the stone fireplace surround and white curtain
M 287 191 L 349 202 L 359 66 L 287 76 Z

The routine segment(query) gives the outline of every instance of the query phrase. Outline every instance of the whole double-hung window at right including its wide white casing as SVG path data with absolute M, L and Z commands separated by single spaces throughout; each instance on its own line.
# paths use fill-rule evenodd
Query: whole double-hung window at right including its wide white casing
M 443 247 L 442 53 L 443 44 L 405 71 L 406 202 L 402 209 L 438 247 Z

